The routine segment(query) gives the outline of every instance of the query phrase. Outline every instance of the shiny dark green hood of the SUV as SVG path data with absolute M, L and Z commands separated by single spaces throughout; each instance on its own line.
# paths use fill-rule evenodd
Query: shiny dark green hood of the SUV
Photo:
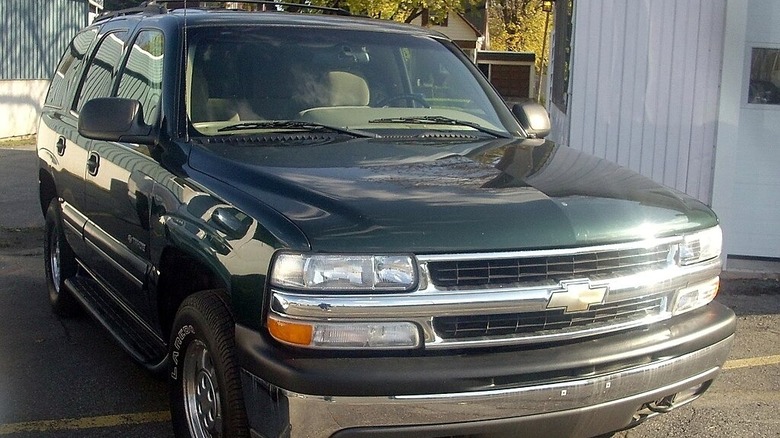
M 314 251 L 566 248 L 717 223 L 684 194 L 541 140 L 223 140 L 189 164 L 280 212 Z

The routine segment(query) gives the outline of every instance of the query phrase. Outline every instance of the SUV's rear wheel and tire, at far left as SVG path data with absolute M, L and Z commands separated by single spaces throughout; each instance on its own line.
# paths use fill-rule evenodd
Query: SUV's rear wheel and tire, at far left
M 76 275 L 76 256 L 62 231 L 60 203 L 55 198 L 46 210 L 43 254 L 46 263 L 46 284 L 49 288 L 49 303 L 55 314 L 63 317 L 81 313 L 81 306 L 65 280 Z

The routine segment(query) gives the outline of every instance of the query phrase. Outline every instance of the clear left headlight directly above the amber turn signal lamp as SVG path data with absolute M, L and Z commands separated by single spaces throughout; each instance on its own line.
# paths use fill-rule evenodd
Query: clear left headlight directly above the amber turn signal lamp
M 312 291 L 407 291 L 417 284 L 417 272 L 411 256 L 282 253 L 270 281 Z

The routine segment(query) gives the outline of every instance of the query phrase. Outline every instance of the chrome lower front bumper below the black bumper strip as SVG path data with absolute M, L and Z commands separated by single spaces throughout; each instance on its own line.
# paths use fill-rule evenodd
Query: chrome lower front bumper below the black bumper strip
M 587 437 L 629 427 L 697 398 L 726 361 L 733 338 L 682 356 L 590 378 L 475 392 L 330 397 L 287 391 L 246 371 L 242 379 L 248 395 L 258 390 L 271 395 L 275 414 L 289 420 L 282 435 L 289 433 L 291 438 L 331 437 L 337 432 L 358 436 L 359 428 L 383 427 L 397 431 L 398 436 L 415 436 L 415 431 L 424 431 L 428 425 L 435 425 L 442 435 L 459 435 L 484 431 L 486 426 L 490 429 L 491 421 L 500 420 L 506 426 L 505 420 L 510 420 L 517 427 L 551 414 L 558 433 L 570 424 L 567 436 Z M 654 408 L 662 399 L 665 405 Z M 247 406 L 251 409 L 249 397 Z M 605 415 L 599 415 L 598 421 L 583 421 L 584 414 L 593 417 L 595 412 Z M 536 426 L 534 430 L 540 432 Z M 255 432 L 280 435 L 278 430 Z

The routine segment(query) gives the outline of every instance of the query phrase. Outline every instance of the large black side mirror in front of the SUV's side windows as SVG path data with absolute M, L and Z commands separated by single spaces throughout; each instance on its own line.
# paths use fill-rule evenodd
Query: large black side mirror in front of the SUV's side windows
M 84 104 L 79 134 L 94 140 L 155 143 L 153 127 L 144 123 L 141 102 L 119 97 L 100 97 Z

